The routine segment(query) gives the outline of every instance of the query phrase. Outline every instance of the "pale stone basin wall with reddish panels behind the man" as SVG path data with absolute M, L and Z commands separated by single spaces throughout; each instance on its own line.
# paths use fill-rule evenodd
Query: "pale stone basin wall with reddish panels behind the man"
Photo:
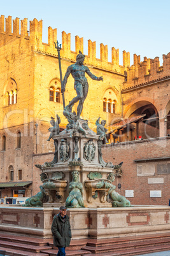
M 59 208 L 0 206 L 0 231 L 30 237 L 52 238 L 53 216 Z M 166 233 L 170 229 L 168 206 L 129 208 L 74 208 L 67 211 L 73 239 L 115 238 Z

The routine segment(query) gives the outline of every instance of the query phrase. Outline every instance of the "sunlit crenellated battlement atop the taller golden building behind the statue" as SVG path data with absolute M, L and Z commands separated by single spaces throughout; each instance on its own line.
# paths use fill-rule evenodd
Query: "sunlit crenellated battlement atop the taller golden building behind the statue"
M 48 43 L 43 43 L 43 21 L 34 20 L 29 22 L 24 18 L 20 20 L 15 18 L 12 20 L 11 16 L 5 18 L 4 15 L 0 17 L 0 47 L 14 40 L 20 40 L 21 43 L 30 43 L 34 46 L 34 50 L 39 53 L 45 53 L 47 55 L 53 55 L 57 57 L 57 50 L 55 49 L 54 42 L 57 41 L 57 29 L 48 27 Z M 83 38 L 75 36 L 75 51 L 71 50 L 71 34 L 62 32 L 62 50 L 60 56 L 63 59 L 76 61 L 76 55 L 79 50 L 83 52 Z M 88 55 L 85 58 L 85 64 L 93 66 L 95 68 L 101 68 L 106 71 L 118 73 L 124 76 L 124 72 L 127 71 L 127 66 L 130 66 L 130 54 L 129 52 L 123 52 L 123 66 L 119 64 L 119 50 L 114 47 L 111 48 L 111 62 L 108 62 L 108 45 L 100 45 L 100 59 L 96 58 L 96 42 L 88 41 Z

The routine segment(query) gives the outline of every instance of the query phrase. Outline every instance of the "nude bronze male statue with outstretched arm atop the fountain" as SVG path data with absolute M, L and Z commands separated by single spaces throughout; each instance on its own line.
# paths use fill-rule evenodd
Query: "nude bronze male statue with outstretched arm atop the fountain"
M 74 89 L 76 90 L 77 96 L 70 101 L 70 103 L 66 106 L 66 110 L 73 107 L 74 103 L 79 101 L 78 108 L 77 108 L 77 116 L 80 117 L 81 112 L 83 110 L 83 103 L 85 101 L 85 98 L 87 97 L 87 93 L 89 90 L 89 84 L 87 82 L 87 78 L 85 77 L 85 73 L 90 76 L 93 80 L 97 81 L 103 81 L 103 77 L 97 77 L 93 75 L 89 68 L 83 65 L 83 62 L 85 60 L 85 55 L 83 55 L 80 51 L 80 54 L 76 56 L 76 63 L 69 66 L 66 71 L 66 75 L 64 76 L 64 80 L 62 82 L 62 94 L 65 92 L 66 89 L 66 83 L 67 78 L 71 74 L 74 78 Z

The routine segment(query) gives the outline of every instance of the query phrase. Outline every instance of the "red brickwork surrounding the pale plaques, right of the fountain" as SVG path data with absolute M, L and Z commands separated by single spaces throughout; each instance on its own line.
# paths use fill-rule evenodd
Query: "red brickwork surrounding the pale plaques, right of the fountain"
M 115 143 L 115 145 L 103 146 L 103 159 L 106 162 L 122 165 L 122 177 L 115 178 L 114 184 L 121 184 L 121 188 L 117 187 L 116 191 L 125 196 L 125 190 L 134 190 L 134 197 L 127 197 L 131 204 L 143 205 L 167 205 L 170 199 L 170 173 L 157 174 L 157 165 L 170 163 L 170 138 L 153 138 L 144 139 L 142 141 L 129 141 L 124 143 Z M 164 159 L 169 157 L 169 159 Z M 143 160 L 140 163 L 134 162 L 136 159 L 157 159 L 162 160 Z M 155 174 L 149 176 L 137 176 L 138 164 L 152 164 L 155 166 Z M 162 184 L 148 184 L 148 178 L 164 178 Z M 150 190 L 161 190 L 162 197 L 150 197 Z

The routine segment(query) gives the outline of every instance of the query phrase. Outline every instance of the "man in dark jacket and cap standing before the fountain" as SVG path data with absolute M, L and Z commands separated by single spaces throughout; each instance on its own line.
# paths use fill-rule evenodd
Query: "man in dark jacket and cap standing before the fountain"
M 60 206 L 60 212 L 53 217 L 52 222 L 53 245 L 59 248 L 57 256 L 66 255 L 65 248 L 71 241 L 71 227 L 66 210 L 65 206 Z

